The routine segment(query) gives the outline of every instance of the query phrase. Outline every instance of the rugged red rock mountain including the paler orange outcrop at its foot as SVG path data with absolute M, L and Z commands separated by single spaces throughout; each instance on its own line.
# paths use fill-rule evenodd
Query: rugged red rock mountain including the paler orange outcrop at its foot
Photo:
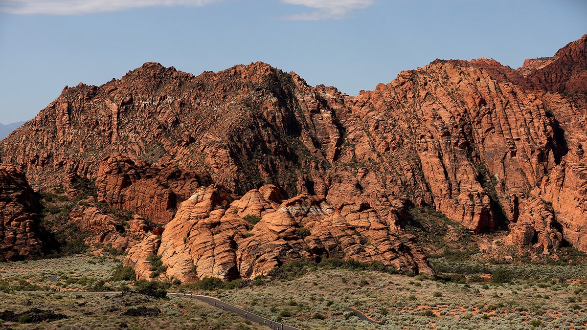
M 586 47 L 518 70 L 436 60 L 354 97 L 260 62 L 199 76 L 145 63 L 66 87 L 0 155 L 35 189 L 74 196 L 95 179 L 99 201 L 167 224 L 129 262 L 158 254 L 178 278 L 330 255 L 427 271 L 402 229 L 412 205 L 509 228 L 510 244 L 587 251 Z M 251 230 L 245 215 L 260 218 Z

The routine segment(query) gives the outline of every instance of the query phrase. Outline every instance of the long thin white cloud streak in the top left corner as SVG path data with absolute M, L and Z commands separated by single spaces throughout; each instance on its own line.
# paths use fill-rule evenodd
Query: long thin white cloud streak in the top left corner
M 222 0 L 0 0 L 7 14 L 82 15 L 158 6 L 204 6 Z

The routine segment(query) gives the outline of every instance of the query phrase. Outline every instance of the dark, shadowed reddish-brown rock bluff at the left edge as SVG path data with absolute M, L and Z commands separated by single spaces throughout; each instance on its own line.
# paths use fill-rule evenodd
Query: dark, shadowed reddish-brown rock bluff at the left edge
M 38 202 L 25 174 L 0 164 L 0 261 L 45 255 L 48 237 L 39 223 Z

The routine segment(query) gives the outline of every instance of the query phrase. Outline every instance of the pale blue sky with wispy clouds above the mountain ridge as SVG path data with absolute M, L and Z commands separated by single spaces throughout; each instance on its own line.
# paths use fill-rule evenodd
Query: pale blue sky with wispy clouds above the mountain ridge
M 261 60 L 357 95 L 436 58 L 518 68 L 584 33 L 583 0 L 0 0 L 0 123 L 149 61 Z

